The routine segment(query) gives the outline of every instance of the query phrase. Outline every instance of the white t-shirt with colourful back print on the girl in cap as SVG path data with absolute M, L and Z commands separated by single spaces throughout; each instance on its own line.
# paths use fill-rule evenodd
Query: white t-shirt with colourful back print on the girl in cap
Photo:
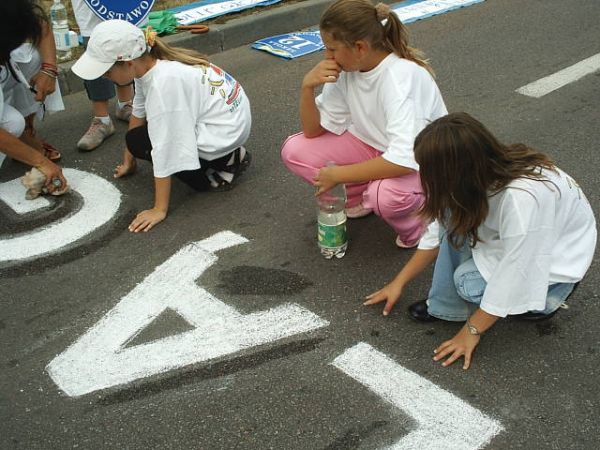
M 133 115 L 146 118 L 154 176 L 200 167 L 243 145 L 250 135 L 250 102 L 242 86 L 215 65 L 158 60 L 135 79 Z

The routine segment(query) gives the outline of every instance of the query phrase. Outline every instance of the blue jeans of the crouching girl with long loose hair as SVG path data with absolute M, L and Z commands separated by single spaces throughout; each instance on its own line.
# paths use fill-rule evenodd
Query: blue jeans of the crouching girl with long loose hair
M 468 243 L 457 250 L 450 245 L 444 233 L 427 299 L 429 314 L 438 319 L 463 322 L 478 308 L 486 287 L 487 283 L 475 266 Z M 574 288 L 575 283 L 551 284 L 546 307 L 536 312 L 553 313 Z

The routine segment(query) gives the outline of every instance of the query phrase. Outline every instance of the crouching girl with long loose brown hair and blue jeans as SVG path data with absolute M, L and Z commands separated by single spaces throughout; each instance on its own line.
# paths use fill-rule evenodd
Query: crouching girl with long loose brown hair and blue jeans
M 466 113 L 442 117 L 415 141 L 425 204 L 434 220 L 396 278 L 365 304 L 389 314 L 406 284 L 435 261 L 419 321 L 465 321 L 434 360 L 468 369 L 480 335 L 509 315 L 552 316 L 594 256 L 596 223 L 578 184 L 543 153 L 504 146 Z M 438 227 L 439 224 L 439 227 Z

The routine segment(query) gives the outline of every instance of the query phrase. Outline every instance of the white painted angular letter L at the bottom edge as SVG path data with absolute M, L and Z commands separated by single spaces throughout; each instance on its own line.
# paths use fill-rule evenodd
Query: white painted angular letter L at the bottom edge
M 417 429 L 390 449 L 479 449 L 503 431 L 496 420 L 364 342 L 346 350 L 332 365 L 417 422 Z

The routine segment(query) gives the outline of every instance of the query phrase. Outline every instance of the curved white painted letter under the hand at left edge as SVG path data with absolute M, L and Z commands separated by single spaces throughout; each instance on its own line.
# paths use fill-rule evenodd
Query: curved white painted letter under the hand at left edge
M 40 229 L 0 239 L 0 262 L 26 260 L 56 252 L 88 235 L 115 216 L 121 204 L 121 193 L 115 186 L 97 175 L 80 170 L 63 169 L 63 173 L 71 189 L 83 197 L 81 209 Z M 25 198 L 25 187 L 21 186 L 21 189 L 18 189 L 16 185 L 10 184 L 14 181 L 8 183 L 8 188 L 2 186 L 0 200 L 18 214 L 24 214 L 19 212 L 25 210 L 18 205 L 19 199 Z M 35 209 L 38 207 L 41 206 L 35 206 Z

